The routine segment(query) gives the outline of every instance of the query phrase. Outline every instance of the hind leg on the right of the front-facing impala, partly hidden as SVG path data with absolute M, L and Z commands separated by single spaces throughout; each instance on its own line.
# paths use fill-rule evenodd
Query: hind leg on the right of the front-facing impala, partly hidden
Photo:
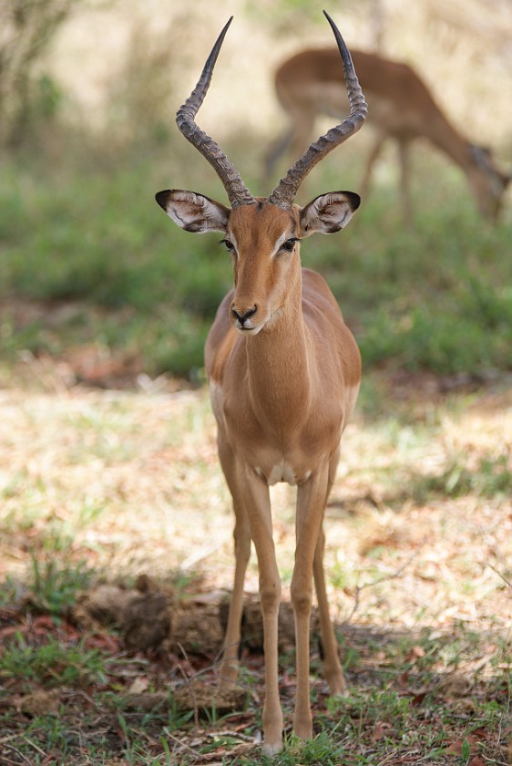
M 333 481 L 336 475 L 336 468 L 340 457 L 340 450 L 336 450 L 329 465 L 329 480 L 327 484 L 327 492 L 325 494 L 325 504 L 331 493 L 333 487 Z M 323 527 L 321 526 L 318 533 L 318 540 L 314 552 L 313 561 L 313 577 L 314 587 L 316 590 L 316 599 L 318 601 L 318 610 L 320 612 L 320 626 L 322 630 L 322 647 L 323 647 L 323 675 L 329 684 L 329 690 L 332 695 L 345 694 L 346 684 L 343 678 L 343 669 L 340 663 L 340 657 L 338 654 L 338 643 L 334 636 L 333 622 L 331 615 L 329 614 L 329 601 L 327 598 L 327 590 L 325 587 L 325 573 L 323 569 L 323 551 L 325 547 L 325 534 L 323 533 Z

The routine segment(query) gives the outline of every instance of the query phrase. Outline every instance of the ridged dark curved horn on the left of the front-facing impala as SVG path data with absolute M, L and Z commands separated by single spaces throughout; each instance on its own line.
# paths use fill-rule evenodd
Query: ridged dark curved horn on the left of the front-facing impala
M 222 46 L 224 37 L 226 36 L 226 32 L 228 31 L 228 27 L 232 20 L 233 17 L 231 16 L 226 26 L 224 26 L 220 32 L 220 36 L 211 49 L 210 56 L 201 72 L 198 84 L 183 106 L 178 109 L 176 122 L 185 138 L 200 151 L 203 157 L 210 162 L 210 165 L 217 172 L 220 181 L 222 181 L 224 185 L 224 189 L 227 191 L 231 207 L 235 208 L 240 207 L 241 205 L 252 204 L 252 202 L 254 202 L 254 197 L 241 180 L 239 173 L 235 171 L 230 160 L 228 160 L 224 152 L 220 149 L 219 144 L 213 139 L 210 139 L 210 136 L 201 130 L 194 121 L 198 109 L 200 109 L 200 105 L 208 92 L 208 88 L 210 88 L 213 67 L 215 67 L 220 47 Z

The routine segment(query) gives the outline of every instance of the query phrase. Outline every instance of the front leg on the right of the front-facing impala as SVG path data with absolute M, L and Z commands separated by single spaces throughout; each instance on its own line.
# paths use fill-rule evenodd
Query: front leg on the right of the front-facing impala
M 308 481 L 304 481 L 297 492 L 297 544 L 291 587 L 297 656 L 297 697 L 293 731 L 303 740 L 312 736 L 309 681 L 312 567 L 318 535 L 322 529 L 328 472 L 326 464 L 312 474 Z

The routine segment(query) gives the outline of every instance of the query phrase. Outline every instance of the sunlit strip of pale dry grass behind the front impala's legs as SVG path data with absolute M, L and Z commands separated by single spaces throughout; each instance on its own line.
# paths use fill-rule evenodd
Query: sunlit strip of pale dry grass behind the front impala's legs
M 67 389 L 55 372 L 46 390 L 0 391 L 0 576 L 23 574 L 57 537 L 111 574 L 199 569 L 230 587 L 230 501 L 207 393 L 155 388 Z M 345 433 L 327 510 L 336 616 L 351 615 L 357 596 L 358 622 L 507 626 L 510 392 L 378 390 L 382 413 L 360 413 Z M 293 491 L 273 496 L 286 583 Z

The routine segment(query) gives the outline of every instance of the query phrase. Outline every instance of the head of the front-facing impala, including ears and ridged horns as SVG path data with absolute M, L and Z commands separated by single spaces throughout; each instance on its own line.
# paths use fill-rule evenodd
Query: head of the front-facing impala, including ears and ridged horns
M 350 53 L 337 26 L 324 12 L 333 29 L 342 63 L 350 115 L 314 141 L 268 198 L 254 198 L 219 144 L 195 122 L 210 87 L 213 67 L 232 16 L 211 50 L 200 80 L 180 107 L 179 130 L 210 162 L 228 194 L 230 207 L 194 191 L 165 190 L 157 202 L 180 228 L 187 232 L 224 234 L 234 270 L 234 295 L 230 322 L 241 333 L 256 334 L 282 314 L 287 296 L 296 295 L 291 285 L 300 281 L 299 242 L 312 233 L 334 233 L 343 229 L 359 206 L 352 191 L 331 191 L 304 207 L 294 204 L 302 181 L 333 149 L 349 139 L 364 123 L 367 107 Z

